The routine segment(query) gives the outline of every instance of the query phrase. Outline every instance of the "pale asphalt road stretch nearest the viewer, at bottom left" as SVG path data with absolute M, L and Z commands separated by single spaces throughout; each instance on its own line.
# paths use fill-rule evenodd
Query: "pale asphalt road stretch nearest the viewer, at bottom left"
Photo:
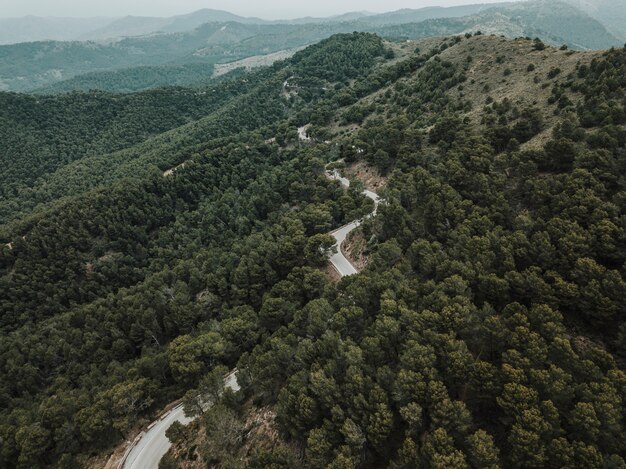
M 224 378 L 224 386 L 233 391 L 239 390 L 236 372 L 232 371 Z M 165 436 L 166 430 L 174 422 L 187 425 L 192 420 L 193 419 L 185 416 L 182 404 L 174 407 L 160 419 L 152 422 L 148 428 L 139 435 L 139 439 L 135 440 L 135 445 L 132 446 L 127 453 L 126 459 L 122 460 L 122 467 L 124 469 L 157 469 L 159 467 L 159 461 L 172 445 Z

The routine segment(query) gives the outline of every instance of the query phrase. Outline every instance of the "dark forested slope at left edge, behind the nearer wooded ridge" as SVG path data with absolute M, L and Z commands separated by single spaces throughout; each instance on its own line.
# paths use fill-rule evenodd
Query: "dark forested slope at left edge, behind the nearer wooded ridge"
M 250 87 L 241 80 L 210 89 L 59 97 L 0 93 L 0 205 L 65 165 L 108 154 L 197 121 Z M 19 204 L 18 204 L 19 205 Z M 4 210 L 0 209 L 4 213 Z M 4 216 L 0 217 L 3 219 Z

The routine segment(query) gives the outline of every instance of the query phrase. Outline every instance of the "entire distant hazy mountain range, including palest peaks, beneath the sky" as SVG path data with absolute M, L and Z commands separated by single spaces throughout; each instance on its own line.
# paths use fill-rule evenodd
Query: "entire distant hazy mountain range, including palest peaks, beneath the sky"
M 580 1 L 583 0 L 432 7 L 376 15 L 356 12 L 293 21 L 265 21 L 208 9 L 172 18 L 125 17 L 104 25 L 102 19 L 89 19 L 82 29 L 70 27 L 75 25 L 70 21 L 63 34 L 65 37 L 76 34 L 81 41 L 0 46 L 0 90 L 66 91 L 93 87 L 124 91 L 166 83 L 190 84 L 196 78 L 206 81 L 212 64 L 306 46 L 333 34 L 352 31 L 373 32 L 392 40 L 411 40 L 480 30 L 508 37 L 540 37 L 551 44 L 566 44 L 577 49 L 622 45 L 618 34 L 611 33 L 600 20 L 572 5 Z M 603 1 L 611 4 L 611 0 Z M 595 15 L 599 15 L 598 11 Z M 28 19 L 35 23 L 41 20 Z M 50 21 L 48 24 L 53 23 Z M 87 25 L 99 27 L 85 31 Z M 27 30 L 24 29 L 22 37 Z M 6 31 L 4 33 L 6 36 Z M 188 67 L 193 64 L 202 66 Z M 141 73 L 134 70 L 137 67 L 142 67 Z M 111 73 L 120 70 L 125 72 Z M 146 71 L 151 75 L 149 79 L 141 78 Z M 184 74 L 184 78 L 176 78 L 177 73 Z M 49 88 L 74 77 L 78 79 L 73 83 Z M 122 81 L 123 86 L 118 85 Z

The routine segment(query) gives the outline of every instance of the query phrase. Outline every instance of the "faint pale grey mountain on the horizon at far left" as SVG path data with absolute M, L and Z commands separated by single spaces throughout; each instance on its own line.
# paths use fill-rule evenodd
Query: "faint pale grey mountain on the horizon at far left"
M 0 18 L 0 45 L 34 41 L 72 41 L 115 18 Z

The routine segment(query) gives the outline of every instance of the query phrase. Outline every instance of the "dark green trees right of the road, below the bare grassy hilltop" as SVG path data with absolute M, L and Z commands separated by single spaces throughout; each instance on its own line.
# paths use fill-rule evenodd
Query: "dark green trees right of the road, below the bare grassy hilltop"
M 305 463 L 624 467 L 624 64 L 581 72 L 541 150 L 491 125 L 431 138 L 363 227 L 368 269 L 240 360 Z M 541 123 L 508 119 L 527 138 Z

